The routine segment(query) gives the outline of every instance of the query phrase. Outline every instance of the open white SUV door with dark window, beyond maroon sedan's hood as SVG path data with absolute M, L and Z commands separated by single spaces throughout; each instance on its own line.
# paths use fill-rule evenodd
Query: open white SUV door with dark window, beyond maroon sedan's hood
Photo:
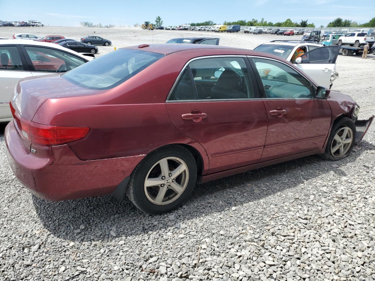
M 336 45 L 319 47 L 297 58 L 295 65 L 314 79 L 318 86 L 329 89 L 339 51 L 340 46 Z

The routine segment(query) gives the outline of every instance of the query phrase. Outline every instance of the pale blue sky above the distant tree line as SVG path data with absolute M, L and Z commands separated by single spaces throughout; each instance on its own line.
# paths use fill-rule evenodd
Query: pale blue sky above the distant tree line
M 151 3 L 147 5 L 146 3 Z M 236 4 L 234 4 L 236 3 Z M 375 8 L 367 1 L 363 7 L 349 0 L 253 0 L 253 1 L 57 1 L 57 0 L 0 0 L 0 20 L 28 21 L 34 19 L 45 25 L 79 26 L 81 21 L 95 24 L 130 25 L 154 22 L 161 16 L 163 25 L 190 22 L 223 21 L 252 18 L 278 22 L 308 19 L 315 25 L 327 25 L 337 17 L 358 23 L 375 16 Z

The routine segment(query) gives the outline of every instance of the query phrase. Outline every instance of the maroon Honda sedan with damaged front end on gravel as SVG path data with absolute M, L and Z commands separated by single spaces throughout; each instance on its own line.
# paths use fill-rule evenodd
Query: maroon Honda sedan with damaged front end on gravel
M 127 194 L 150 214 L 180 206 L 196 182 L 347 157 L 372 121 L 282 58 L 198 44 L 122 48 L 21 80 L 10 107 L 7 157 L 32 193 Z

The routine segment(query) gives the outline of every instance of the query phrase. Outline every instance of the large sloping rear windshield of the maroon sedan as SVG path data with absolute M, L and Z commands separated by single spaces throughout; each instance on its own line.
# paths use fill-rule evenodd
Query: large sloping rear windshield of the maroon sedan
M 119 49 L 68 71 L 63 78 L 83 88 L 107 90 L 141 72 L 162 54 L 132 49 Z

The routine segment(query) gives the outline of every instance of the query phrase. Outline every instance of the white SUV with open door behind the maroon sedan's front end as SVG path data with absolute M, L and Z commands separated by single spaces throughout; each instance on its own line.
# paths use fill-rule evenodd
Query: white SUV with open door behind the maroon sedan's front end
M 321 48 L 324 48 L 324 50 Z M 326 88 L 331 88 L 332 82 L 338 77 L 336 58 L 339 50 L 340 46 L 337 45 L 324 46 L 319 43 L 301 43 L 301 41 L 294 40 L 273 40 L 254 49 L 254 51 L 284 58 L 302 69 L 318 85 Z

